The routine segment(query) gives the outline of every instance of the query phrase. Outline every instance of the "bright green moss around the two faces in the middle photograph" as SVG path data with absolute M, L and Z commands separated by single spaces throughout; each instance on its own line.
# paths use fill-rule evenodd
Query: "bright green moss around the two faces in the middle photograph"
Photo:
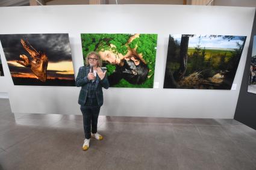
M 120 82 L 113 87 L 152 88 L 154 84 L 157 34 L 140 34 L 139 37 L 134 38 L 131 43 L 128 43 L 128 40 L 133 35 L 134 34 L 81 34 L 84 62 L 87 54 L 92 51 L 111 50 L 111 52 L 116 54 L 120 53 L 125 55 L 129 47 L 136 49 L 138 54 L 143 55 L 143 59 L 149 68 L 148 78 L 139 85 L 131 84 L 125 79 L 121 79 Z M 113 74 L 116 70 L 116 66 L 113 64 L 103 62 L 103 65 L 107 67 L 108 76 Z

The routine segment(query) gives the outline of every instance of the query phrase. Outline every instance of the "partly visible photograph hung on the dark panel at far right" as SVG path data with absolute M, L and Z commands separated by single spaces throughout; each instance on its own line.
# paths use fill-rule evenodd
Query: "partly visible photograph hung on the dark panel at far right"
M 248 92 L 256 94 L 256 35 L 254 36 L 254 43 L 252 45 Z

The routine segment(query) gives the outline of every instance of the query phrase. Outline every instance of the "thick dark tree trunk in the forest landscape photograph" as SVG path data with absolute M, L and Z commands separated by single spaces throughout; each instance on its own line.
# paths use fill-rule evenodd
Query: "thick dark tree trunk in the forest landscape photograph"
M 175 73 L 176 81 L 181 80 L 184 77 L 184 74 L 186 73 L 188 47 L 189 47 L 189 36 L 183 35 L 181 37 L 181 46 L 180 46 L 180 68 Z

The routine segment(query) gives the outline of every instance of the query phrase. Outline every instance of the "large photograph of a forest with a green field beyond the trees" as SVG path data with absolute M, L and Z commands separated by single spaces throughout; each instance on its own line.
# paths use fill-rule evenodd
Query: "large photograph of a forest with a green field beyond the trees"
M 246 36 L 169 35 L 164 88 L 230 90 Z

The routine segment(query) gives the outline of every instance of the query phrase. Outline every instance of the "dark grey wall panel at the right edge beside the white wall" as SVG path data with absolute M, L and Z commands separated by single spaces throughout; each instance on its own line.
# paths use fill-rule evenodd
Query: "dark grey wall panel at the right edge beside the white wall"
M 234 119 L 246 124 L 249 127 L 256 129 L 256 114 L 255 114 L 255 101 L 256 91 L 254 93 L 248 92 L 248 82 L 250 74 L 250 65 L 252 58 L 252 48 L 254 35 L 256 35 L 256 17 L 254 17 L 254 25 L 252 27 L 251 40 L 248 49 L 248 55 L 246 59 L 245 71 L 243 73 L 242 85 L 240 88 L 239 99 L 237 102 L 236 113 Z M 255 48 L 255 47 L 254 47 Z M 255 85 L 253 85 L 255 87 Z

